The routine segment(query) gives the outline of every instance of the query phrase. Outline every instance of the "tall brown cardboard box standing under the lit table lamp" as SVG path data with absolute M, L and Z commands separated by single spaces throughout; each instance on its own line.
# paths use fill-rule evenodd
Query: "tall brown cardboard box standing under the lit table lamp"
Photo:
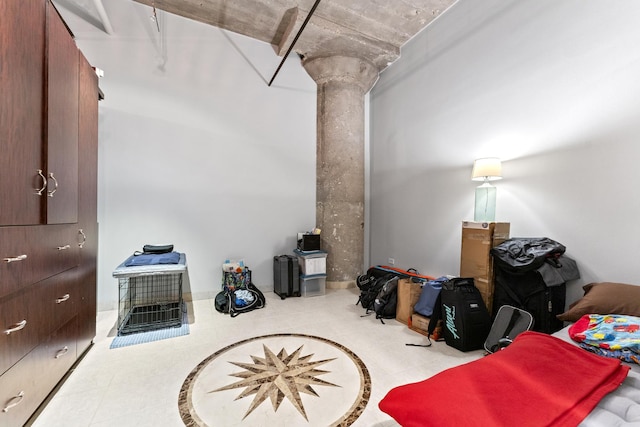
M 473 277 L 489 313 L 493 305 L 493 258 L 489 252 L 509 238 L 508 222 L 462 223 L 460 277 Z

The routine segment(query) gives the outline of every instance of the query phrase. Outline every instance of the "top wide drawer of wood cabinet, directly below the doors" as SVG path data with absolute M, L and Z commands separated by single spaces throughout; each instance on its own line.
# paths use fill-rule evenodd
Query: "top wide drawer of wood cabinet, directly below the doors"
M 76 225 L 0 227 L 0 298 L 78 265 Z

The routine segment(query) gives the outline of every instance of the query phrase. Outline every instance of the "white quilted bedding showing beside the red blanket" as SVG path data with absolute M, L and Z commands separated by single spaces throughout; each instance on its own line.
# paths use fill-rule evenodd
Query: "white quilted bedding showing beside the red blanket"
M 568 329 L 569 327 L 566 327 L 553 335 L 577 345 L 569 337 Z M 620 387 L 598 403 L 598 406 L 580 423 L 581 427 L 640 427 L 640 365 L 628 363 L 627 365 L 631 367 L 627 378 Z

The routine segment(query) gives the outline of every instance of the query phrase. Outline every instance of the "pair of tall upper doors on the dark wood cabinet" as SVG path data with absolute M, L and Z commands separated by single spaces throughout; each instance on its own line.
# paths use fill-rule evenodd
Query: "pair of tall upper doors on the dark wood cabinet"
M 44 0 L 3 0 L 0 38 L 0 224 L 76 223 L 80 53 Z

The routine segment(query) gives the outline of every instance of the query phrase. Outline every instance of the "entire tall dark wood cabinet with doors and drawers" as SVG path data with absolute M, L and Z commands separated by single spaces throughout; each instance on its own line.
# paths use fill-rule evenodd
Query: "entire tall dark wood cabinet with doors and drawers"
M 0 0 L 0 427 L 95 337 L 97 80 L 50 0 Z

